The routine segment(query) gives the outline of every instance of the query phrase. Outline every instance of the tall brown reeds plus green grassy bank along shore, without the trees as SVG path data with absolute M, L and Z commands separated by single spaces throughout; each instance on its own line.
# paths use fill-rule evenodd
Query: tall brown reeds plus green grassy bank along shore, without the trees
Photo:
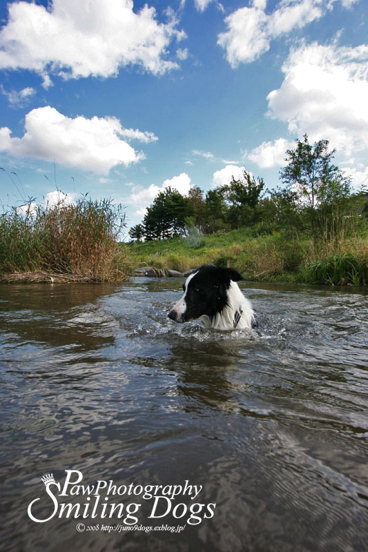
M 232 266 L 253 281 L 368 285 L 368 235 L 316 246 L 304 235 L 255 228 L 118 244 L 124 214 L 110 201 L 12 209 L 0 215 L 0 281 L 123 281 L 138 266 Z

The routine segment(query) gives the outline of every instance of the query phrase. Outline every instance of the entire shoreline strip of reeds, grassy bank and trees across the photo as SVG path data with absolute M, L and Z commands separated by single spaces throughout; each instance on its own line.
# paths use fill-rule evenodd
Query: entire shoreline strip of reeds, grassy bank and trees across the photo
M 129 244 L 119 241 L 124 210 L 110 200 L 4 210 L 0 281 L 124 281 L 142 266 L 162 275 L 213 263 L 250 280 L 366 286 L 368 193 L 351 189 L 333 155 L 305 135 L 286 152 L 282 187 L 244 171 L 206 193 L 166 188 Z

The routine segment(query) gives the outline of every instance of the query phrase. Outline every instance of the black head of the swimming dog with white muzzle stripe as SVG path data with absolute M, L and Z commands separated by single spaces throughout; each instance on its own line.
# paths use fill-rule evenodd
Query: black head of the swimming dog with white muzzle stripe
M 242 276 L 233 268 L 207 265 L 193 270 L 183 286 L 184 295 L 173 306 L 168 317 L 175 322 L 189 322 L 203 315 L 212 318 L 227 305 L 226 292 L 231 280 L 238 282 L 241 279 Z

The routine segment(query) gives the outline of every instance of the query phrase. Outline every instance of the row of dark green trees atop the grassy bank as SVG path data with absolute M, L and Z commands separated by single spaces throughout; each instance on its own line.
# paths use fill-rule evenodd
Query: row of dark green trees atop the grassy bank
M 367 192 L 352 193 L 349 178 L 333 165 L 329 141 L 309 144 L 307 135 L 287 150 L 280 170 L 283 188 L 268 190 L 262 178 L 244 170 L 229 184 L 204 192 L 193 186 L 183 196 L 173 188 L 160 192 L 147 208 L 142 224 L 130 228 L 131 239 L 166 239 L 253 227 L 257 233 L 279 228 L 311 233 L 313 239 L 340 239 L 347 221 L 368 215 Z

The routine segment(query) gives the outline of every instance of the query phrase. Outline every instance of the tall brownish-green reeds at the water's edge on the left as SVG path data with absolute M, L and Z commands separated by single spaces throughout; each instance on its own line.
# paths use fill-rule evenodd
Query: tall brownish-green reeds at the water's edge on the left
M 54 282 L 127 279 L 129 257 L 117 243 L 123 227 L 121 209 L 106 200 L 82 197 L 71 205 L 12 208 L 0 215 L 0 279 L 16 281 L 19 274 L 30 281 L 37 274 Z M 1 278 L 6 274 L 12 279 Z M 60 280 L 61 274 L 72 277 Z

